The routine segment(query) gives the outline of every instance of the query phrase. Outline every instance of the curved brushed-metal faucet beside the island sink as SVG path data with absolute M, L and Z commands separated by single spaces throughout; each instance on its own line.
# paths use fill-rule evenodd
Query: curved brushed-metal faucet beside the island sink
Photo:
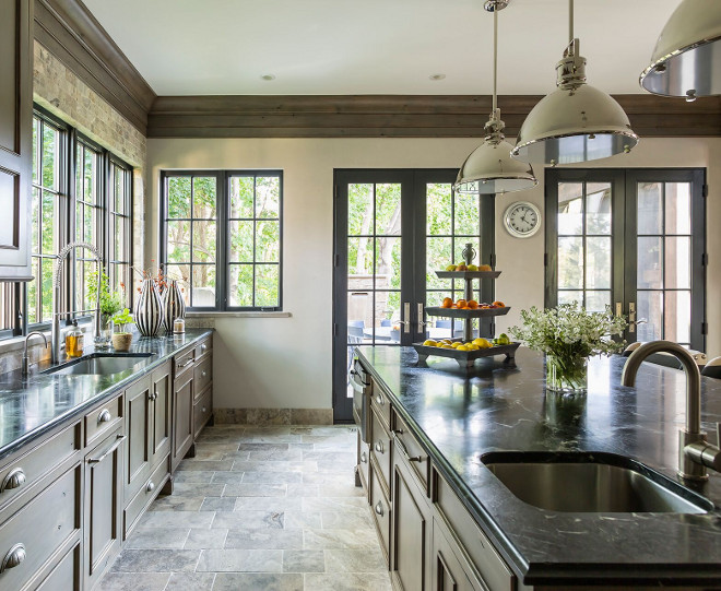
M 701 373 L 692 354 L 671 341 L 645 343 L 626 360 L 620 383 L 633 387 L 641 362 L 653 353 L 670 353 L 684 366 L 686 428 L 678 432 L 678 475 L 689 481 L 706 481 L 709 477 L 707 468 L 721 472 L 721 449 L 709 444 L 706 440 L 706 433 L 701 430 Z M 721 441 L 719 444 L 721 445 Z

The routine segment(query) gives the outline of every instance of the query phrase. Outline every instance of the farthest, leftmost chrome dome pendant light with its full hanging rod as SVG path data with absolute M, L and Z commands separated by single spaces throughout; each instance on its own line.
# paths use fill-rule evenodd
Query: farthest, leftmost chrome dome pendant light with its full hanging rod
M 539 184 L 533 169 L 510 157 L 513 147 L 505 141 L 504 122 L 498 108 L 498 11 L 510 0 L 487 0 L 485 9 L 493 12 L 493 110 L 484 127 L 483 143 L 465 158 L 453 188 L 458 193 L 508 193 L 523 191 Z

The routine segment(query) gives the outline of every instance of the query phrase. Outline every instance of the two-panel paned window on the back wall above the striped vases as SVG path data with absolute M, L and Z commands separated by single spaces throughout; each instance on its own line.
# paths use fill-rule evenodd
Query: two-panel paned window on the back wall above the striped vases
M 280 172 L 163 174 L 165 273 L 191 309 L 281 309 Z

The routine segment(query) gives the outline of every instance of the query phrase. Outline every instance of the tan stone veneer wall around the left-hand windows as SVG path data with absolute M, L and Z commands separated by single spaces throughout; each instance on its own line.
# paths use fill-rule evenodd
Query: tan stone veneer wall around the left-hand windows
M 142 269 L 145 244 L 145 137 L 37 40 L 34 48 L 33 99 L 133 167 L 132 264 Z M 29 356 L 33 363 L 49 358 L 50 348 L 43 347 L 40 338 L 33 338 L 32 343 Z M 20 340 L 0 343 L 0 374 L 20 368 L 22 347 Z

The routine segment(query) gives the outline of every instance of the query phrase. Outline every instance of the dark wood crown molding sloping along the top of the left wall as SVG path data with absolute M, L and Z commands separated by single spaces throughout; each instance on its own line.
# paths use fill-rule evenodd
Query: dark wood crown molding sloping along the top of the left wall
M 81 0 L 35 0 L 35 38 L 146 133 L 156 95 Z

